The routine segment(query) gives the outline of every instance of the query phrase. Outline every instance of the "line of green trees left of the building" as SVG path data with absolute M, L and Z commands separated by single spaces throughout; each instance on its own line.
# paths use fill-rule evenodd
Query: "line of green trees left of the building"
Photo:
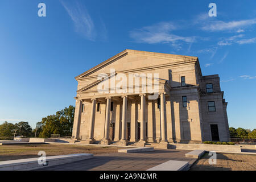
M 42 121 L 36 123 L 35 129 L 32 129 L 28 122 L 21 121 L 13 124 L 6 121 L 0 125 L 0 139 L 11 139 L 14 134 L 16 136 L 39 138 L 49 138 L 51 134 L 71 136 L 74 115 L 75 107 L 70 105 L 57 111 L 56 114 L 42 118 Z

